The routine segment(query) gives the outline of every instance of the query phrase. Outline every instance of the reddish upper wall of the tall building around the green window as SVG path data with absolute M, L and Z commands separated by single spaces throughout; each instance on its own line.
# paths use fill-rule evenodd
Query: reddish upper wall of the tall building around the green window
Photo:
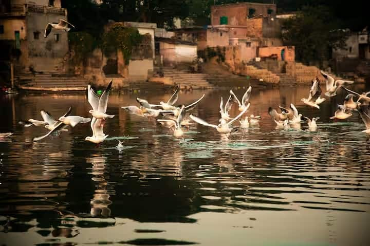
M 228 25 L 246 25 L 249 9 L 255 9 L 254 15 L 268 15 L 268 9 L 272 9 L 271 16 L 276 15 L 276 5 L 258 3 L 240 3 L 211 6 L 211 25 L 219 25 L 220 17 L 228 17 Z

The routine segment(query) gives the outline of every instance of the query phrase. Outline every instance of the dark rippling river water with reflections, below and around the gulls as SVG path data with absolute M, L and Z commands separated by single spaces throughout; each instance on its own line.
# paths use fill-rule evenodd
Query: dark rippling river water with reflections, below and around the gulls
M 359 88 L 360 91 L 365 88 Z M 84 95 L 0 98 L 0 239 L 5 245 L 369 245 L 370 145 L 357 112 L 329 117 L 345 93 L 321 105 L 302 104 L 308 87 L 252 91 L 248 115 L 259 124 L 229 136 L 194 124 L 183 138 L 119 106 L 136 97 L 163 101 L 170 93 L 113 94 L 107 141 L 84 141 L 89 125 L 32 142 L 42 127 L 19 120 L 40 110 L 88 117 Z M 237 95 L 243 88 L 235 89 Z M 194 115 L 216 124 L 228 91 L 181 92 L 188 104 L 206 93 Z M 276 128 L 268 107 L 294 103 L 306 123 Z M 234 106 L 231 115 L 237 115 Z M 123 147 L 117 147 L 118 141 Z

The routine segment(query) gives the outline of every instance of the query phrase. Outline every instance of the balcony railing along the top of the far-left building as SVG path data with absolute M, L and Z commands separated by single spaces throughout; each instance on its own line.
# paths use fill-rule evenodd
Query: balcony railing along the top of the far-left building
M 66 15 L 66 9 L 54 8 L 42 5 L 34 4 L 14 4 L 10 6 L 10 9 L 6 9 L 4 6 L 0 6 L 0 15 L 25 15 L 27 12 L 33 13 L 49 13 L 49 14 L 59 14 Z

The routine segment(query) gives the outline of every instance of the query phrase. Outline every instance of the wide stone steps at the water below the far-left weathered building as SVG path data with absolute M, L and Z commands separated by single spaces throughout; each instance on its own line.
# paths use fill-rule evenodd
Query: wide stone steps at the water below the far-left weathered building
M 53 72 L 24 73 L 15 76 L 16 85 L 20 88 L 30 90 L 40 88 L 41 90 L 86 90 L 88 81 L 74 74 L 59 74 Z M 54 88 L 54 89 L 53 89 Z

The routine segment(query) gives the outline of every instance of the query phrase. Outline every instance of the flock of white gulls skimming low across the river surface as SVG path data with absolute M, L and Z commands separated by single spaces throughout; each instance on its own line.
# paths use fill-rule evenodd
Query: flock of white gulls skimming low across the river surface
M 353 84 L 353 81 L 345 81 L 345 80 L 335 80 L 330 75 L 326 74 L 324 71 L 321 71 L 321 74 L 326 80 L 326 92 L 325 96 L 327 97 L 334 97 L 336 96 L 338 90 L 343 88 L 345 91 L 349 92 L 349 94 L 345 97 L 343 105 L 338 105 L 338 109 L 335 111 L 334 116 L 330 117 L 330 119 L 339 119 L 344 120 L 348 117 L 353 115 L 353 111 L 358 111 L 361 119 L 365 123 L 366 129 L 361 131 L 362 133 L 367 134 L 368 141 L 370 139 L 370 91 L 364 92 L 362 94 L 357 93 L 355 91 L 349 90 L 348 88 L 344 87 L 344 85 Z M 67 126 L 75 127 L 77 124 L 84 124 L 90 122 L 90 127 L 93 132 L 93 136 L 86 137 L 86 141 L 90 141 L 96 144 L 100 144 L 103 142 L 108 135 L 104 134 L 103 127 L 107 119 L 112 119 L 114 115 L 108 115 L 106 113 L 107 105 L 108 105 L 108 98 L 109 93 L 112 90 L 112 83 L 111 80 L 104 90 L 104 92 L 99 96 L 96 89 L 88 85 L 88 102 L 91 106 L 91 110 L 88 112 L 91 114 L 92 118 L 84 118 L 81 116 L 71 116 L 71 107 L 68 108 L 67 112 L 64 113 L 58 120 L 54 120 L 50 113 L 41 110 L 41 117 L 43 120 L 34 120 L 29 119 L 28 121 L 20 121 L 20 124 L 23 124 L 26 127 L 29 126 L 44 126 L 48 129 L 48 133 L 43 136 L 33 138 L 33 141 L 40 141 L 53 133 L 60 135 L 62 131 L 68 131 Z M 253 116 L 250 115 L 249 117 L 246 116 L 246 112 L 250 107 L 250 96 L 252 92 L 252 87 L 249 87 L 245 93 L 243 94 L 242 100 L 239 100 L 235 93 L 230 90 L 230 96 L 226 103 L 224 104 L 223 97 L 220 98 L 220 119 L 217 124 L 211 124 L 206 122 L 205 120 L 200 119 L 197 116 L 194 116 L 190 113 L 192 109 L 194 109 L 199 102 L 205 97 L 203 94 L 195 102 L 191 103 L 190 105 L 180 105 L 175 106 L 178 97 L 179 97 L 180 86 L 177 86 L 175 91 L 173 92 L 172 96 L 169 98 L 167 102 L 160 102 L 159 104 L 152 104 L 149 103 L 145 99 L 137 98 L 136 101 L 140 104 L 140 106 L 131 105 L 131 106 L 122 106 L 121 108 L 127 111 L 128 113 L 146 117 L 146 118 L 158 118 L 157 122 L 159 122 L 164 127 L 168 127 L 172 130 L 173 135 L 175 137 L 181 137 L 184 134 L 184 128 L 190 128 L 190 125 L 193 124 L 191 122 L 194 121 L 198 124 L 205 125 L 208 127 L 215 128 L 218 133 L 221 134 L 231 134 L 237 131 L 239 128 L 248 128 L 249 125 L 258 124 L 261 120 L 260 116 Z M 325 101 L 325 98 L 321 97 L 321 87 L 320 87 L 320 80 L 315 78 L 311 82 L 311 89 L 309 92 L 309 96 L 307 99 L 301 99 L 305 104 L 320 109 L 320 104 Z M 357 98 L 356 101 L 354 99 Z M 231 117 L 229 112 L 231 107 L 234 103 L 238 105 L 239 114 L 235 117 Z M 291 103 L 289 108 L 284 108 L 279 106 L 281 112 L 278 112 L 276 109 L 269 107 L 268 112 L 271 116 L 272 120 L 276 123 L 276 128 L 301 128 L 301 122 L 305 119 L 308 123 L 308 130 L 309 131 L 316 131 L 317 130 L 317 120 L 319 117 L 313 117 L 309 119 L 307 117 L 302 116 L 301 113 L 298 112 L 297 108 Z M 240 120 L 239 120 L 240 119 Z M 233 124 L 239 120 L 239 126 L 233 126 Z M 0 134 L 0 138 L 5 138 L 11 136 L 12 133 L 4 133 Z

